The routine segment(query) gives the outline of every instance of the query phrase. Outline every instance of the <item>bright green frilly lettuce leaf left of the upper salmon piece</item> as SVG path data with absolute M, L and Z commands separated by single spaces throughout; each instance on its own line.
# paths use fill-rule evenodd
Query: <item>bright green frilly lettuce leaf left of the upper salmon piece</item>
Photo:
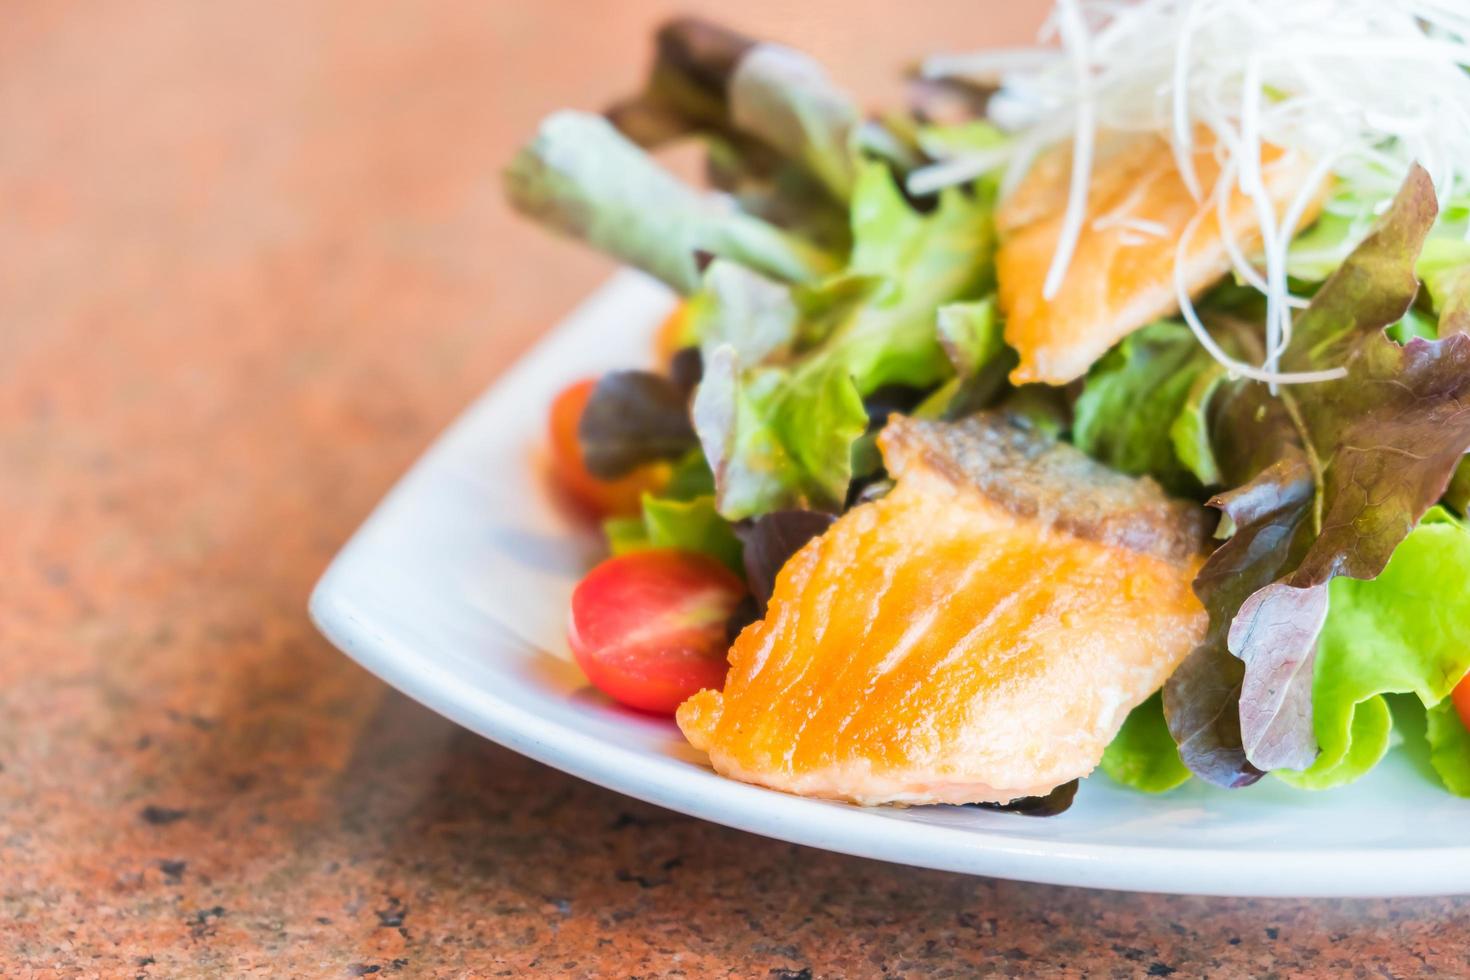
M 700 328 L 704 381 L 694 426 L 725 517 L 842 505 L 853 444 L 867 429 L 863 398 L 885 385 L 929 388 L 953 373 L 936 313 L 994 285 L 991 200 L 985 188 L 956 188 L 919 213 L 888 167 L 867 162 L 853 195 L 848 269 L 772 304 L 784 310 L 770 320 L 779 331 L 764 317 L 722 317 L 732 306 L 722 297 L 728 284 L 709 284 L 695 307 L 719 326 Z M 772 344 L 778 334 L 782 342 Z

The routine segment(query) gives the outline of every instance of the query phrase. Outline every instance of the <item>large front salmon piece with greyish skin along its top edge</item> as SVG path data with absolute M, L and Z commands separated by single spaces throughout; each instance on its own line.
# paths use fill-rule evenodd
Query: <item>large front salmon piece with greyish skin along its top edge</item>
M 881 445 L 897 486 L 786 563 L 684 735 L 725 776 L 858 804 L 1086 776 L 1204 636 L 1201 508 L 998 416 L 895 417 Z

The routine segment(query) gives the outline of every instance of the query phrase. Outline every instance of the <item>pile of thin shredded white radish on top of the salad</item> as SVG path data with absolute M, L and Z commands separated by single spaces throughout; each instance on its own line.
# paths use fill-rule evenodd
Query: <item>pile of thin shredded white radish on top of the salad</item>
M 1467 0 L 1058 0 L 1042 29 L 1042 41 L 1050 38 L 1060 40 L 1060 50 L 948 54 L 926 63 L 931 78 L 998 76 L 991 118 L 1014 138 L 983 157 L 961 154 L 920 169 L 910 188 L 933 191 L 1004 169 L 1004 195 L 1038 154 L 1072 141 L 1067 210 L 1044 285 L 1051 298 L 1086 220 L 1097 134 L 1160 134 L 1197 200 L 1216 195 L 1211 203 L 1223 215 L 1220 187 L 1238 190 L 1258 225 L 1260 254 L 1248 257 L 1235 229 L 1217 222 L 1236 276 L 1266 295 L 1258 366 L 1229 357 L 1205 334 L 1185 288 L 1183 251 L 1197 228 L 1177 244 L 1180 313 L 1238 375 L 1273 386 L 1338 376 L 1279 370 L 1292 310 L 1305 306 L 1289 292 L 1288 270 L 1297 262 L 1341 262 L 1413 162 L 1429 170 L 1442 201 L 1470 184 Z M 1216 188 L 1201 187 L 1195 172 L 1201 132 L 1220 165 Z M 1266 147 L 1313 166 L 1310 187 L 1279 210 L 1266 191 Z M 1329 178 L 1352 190 L 1355 200 L 1338 213 L 1355 234 L 1329 254 L 1294 250 L 1297 228 Z M 1094 226 L 1113 223 L 1127 229 L 1129 242 L 1157 231 L 1113 216 Z

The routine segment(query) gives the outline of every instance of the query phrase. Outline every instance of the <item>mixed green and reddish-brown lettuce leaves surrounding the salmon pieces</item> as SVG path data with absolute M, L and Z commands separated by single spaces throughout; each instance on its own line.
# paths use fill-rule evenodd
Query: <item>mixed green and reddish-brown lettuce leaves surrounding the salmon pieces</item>
M 1067 388 L 1016 388 L 998 181 L 926 182 L 950 159 L 1004 159 L 1013 137 L 976 115 L 985 93 L 925 85 L 910 110 L 864 119 L 806 54 L 681 19 L 638 96 L 606 118 L 553 115 L 512 162 L 520 210 L 686 297 L 679 379 L 614 372 L 582 419 L 598 476 L 679 460 L 637 517 L 607 523 L 612 550 L 682 548 L 741 572 L 738 627 L 804 542 L 883 492 L 889 411 L 998 407 L 1219 513 L 1195 580 L 1205 638 L 1127 716 L 1101 760 L 1111 779 L 1336 786 L 1388 751 L 1385 695 L 1408 693 L 1435 770 L 1470 796 L 1470 732 L 1449 702 L 1470 673 L 1466 203 L 1439 215 L 1414 166 L 1386 207 L 1344 185 L 1298 235 L 1286 272 L 1310 303 L 1280 369 L 1345 366 L 1336 381 L 1233 376 L 1160 319 Z M 964 110 L 939 120 L 938 104 Z M 713 191 L 645 153 L 678 137 L 707 147 Z M 1258 292 L 1223 284 L 1194 309 L 1222 350 L 1263 361 Z M 1055 813 L 1072 792 L 1026 807 Z

